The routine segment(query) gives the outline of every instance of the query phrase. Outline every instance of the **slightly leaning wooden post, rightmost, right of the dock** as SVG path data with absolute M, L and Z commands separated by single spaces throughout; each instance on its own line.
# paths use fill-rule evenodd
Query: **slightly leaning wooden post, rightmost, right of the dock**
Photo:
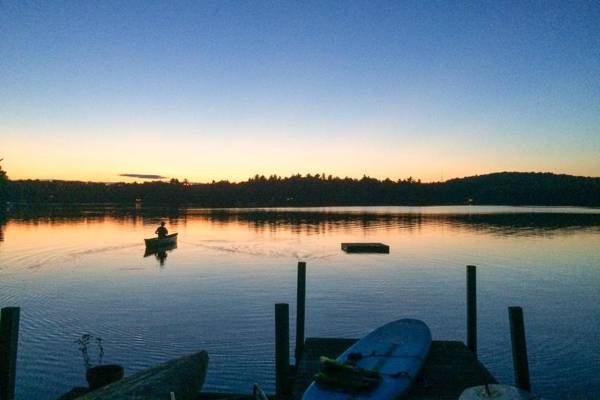
M 513 351 L 513 367 L 515 370 L 515 386 L 523 390 L 531 390 L 529 381 L 529 362 L 527 360 L 527 342 L 525 340 L 525 323 L 521 307 L 508 307 L 510 321 L 510 340 Z

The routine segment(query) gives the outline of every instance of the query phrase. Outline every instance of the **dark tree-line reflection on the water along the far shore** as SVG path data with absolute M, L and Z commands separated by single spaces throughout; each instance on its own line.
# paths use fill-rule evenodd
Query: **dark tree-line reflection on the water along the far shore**
M 193 219 L 217 225 L 242 224 L 258 231 L 286 229 L 298 234 L 356 227 L 412 230 L 423 224 L 462 226 L 502 235 L 600 229 L 600 209 L 575 207 L 22 208 L 11 217 L 32 225 L 112 221 L 135 226 L 165 219 L 172 225 L 185 226 L 188 219 Z

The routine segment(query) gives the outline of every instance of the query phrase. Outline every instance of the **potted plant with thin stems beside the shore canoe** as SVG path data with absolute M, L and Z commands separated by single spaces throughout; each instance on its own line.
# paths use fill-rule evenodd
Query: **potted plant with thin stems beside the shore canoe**
M 79 351 L 83 356 L 83 365 L 85 366 L 85 378 L 88 381 L 91 390 L 101 388 L 109 383 L 113 383 L 123 378 L 123 367 L 118 364 L 102 364 L 104 357 L 104 347 L 102 347 L 102 338 L 92 336 L 89 333 L 81 335 L 75 341 L 79 345 Z M 98 363 L 93 366 L 90 357 L 89 348 L 95 344 L 98 349 Z

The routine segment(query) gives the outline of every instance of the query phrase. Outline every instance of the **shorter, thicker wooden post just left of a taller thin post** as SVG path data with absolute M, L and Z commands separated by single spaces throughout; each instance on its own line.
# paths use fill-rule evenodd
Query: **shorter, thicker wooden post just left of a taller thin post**
M 290 308 L 286 303 L 275 304 L 275 396 L 287 395 L 290 371 Z

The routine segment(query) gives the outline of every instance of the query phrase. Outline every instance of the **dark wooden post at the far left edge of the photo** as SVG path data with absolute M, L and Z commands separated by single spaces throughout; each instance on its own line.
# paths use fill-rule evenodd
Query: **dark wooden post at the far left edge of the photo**
M 1 400 L 13 400 L 15 398 L 20 311 L 19 307 L 6 307 L 0 312 Z

